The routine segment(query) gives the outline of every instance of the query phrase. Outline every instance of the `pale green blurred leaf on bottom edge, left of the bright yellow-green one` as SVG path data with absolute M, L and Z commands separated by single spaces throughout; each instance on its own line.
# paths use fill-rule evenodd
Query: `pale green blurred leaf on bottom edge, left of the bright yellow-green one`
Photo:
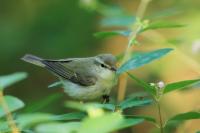
M 35 128 L 37 133 L 72 133 L 80 127 L 80 122 L 69 123 L 45 123 Z

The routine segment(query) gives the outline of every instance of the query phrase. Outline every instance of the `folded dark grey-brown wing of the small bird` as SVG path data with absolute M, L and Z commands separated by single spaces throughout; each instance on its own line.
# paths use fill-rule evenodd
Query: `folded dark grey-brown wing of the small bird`
M 56 75 L 70 80 L 71 82 L 80 84 L 82 86 L 91 86 L 96 83 L 97 78 L 89 73 L 78 71 L 74 69 L 70 64 L 74 60 L 43 60 L 45 67 L 55 73 Z M 68 65 L 69 64 L 69 65 Z

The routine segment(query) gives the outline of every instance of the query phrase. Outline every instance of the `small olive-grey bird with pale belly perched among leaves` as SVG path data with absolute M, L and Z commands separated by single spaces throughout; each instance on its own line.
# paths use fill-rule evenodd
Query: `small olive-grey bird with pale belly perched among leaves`
M 59 60 L 42 59 L 27 54 L 22 60 L 52 72 L 61 80 L 64 91 L 78 100 L 102 97 L 103 102 L 107 103 L 109 93 L 118 81 L 116 58 L 112 54 Z

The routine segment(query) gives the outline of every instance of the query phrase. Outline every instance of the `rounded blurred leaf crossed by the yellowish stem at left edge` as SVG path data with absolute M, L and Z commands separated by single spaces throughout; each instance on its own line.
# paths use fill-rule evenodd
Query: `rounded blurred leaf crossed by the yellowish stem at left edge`
M 3 98 L 8 106 L 8 109 L 9 109 L 8 111 L 10 111 L 10 112 L 16 111 L 16 110 L 24 107 L 24 103 L 16 97 L 4 96 Z M 2 107 L 2 103 L 0 103 L 0 105 L 1 105 L 0 106 L 0 117 L 3 117 L 6 115 L 6 112 Z

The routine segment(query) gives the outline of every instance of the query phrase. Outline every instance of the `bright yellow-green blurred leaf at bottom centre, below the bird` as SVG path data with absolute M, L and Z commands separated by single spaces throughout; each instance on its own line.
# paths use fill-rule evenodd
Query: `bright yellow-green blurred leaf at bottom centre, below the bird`
M 143 122 L 140 118 L 123 118 L 118 113 L 107 113 L 83 121 L 79 133 L 110 133 Z

